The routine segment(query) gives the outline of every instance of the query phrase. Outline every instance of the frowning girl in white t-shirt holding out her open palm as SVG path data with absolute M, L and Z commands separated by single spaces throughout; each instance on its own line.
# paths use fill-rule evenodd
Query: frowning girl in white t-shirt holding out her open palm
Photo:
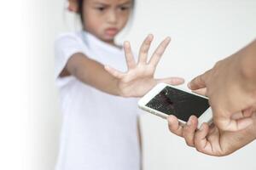
M 147 61 L 153 40 L 149 35 L 137 63 L 129 42 L 124 50 L 114 43 L 134 3 L 69 0 L 69 9 L 80 15 L 83 30 L 63 34 L 55 42 L 55 79 L 63 112 L 56 170 L 140 169 L 137 99 L 128 97 L 143 96 L 157 82 L 183 82 L 175 77 L 154 79 L 169 37 Z

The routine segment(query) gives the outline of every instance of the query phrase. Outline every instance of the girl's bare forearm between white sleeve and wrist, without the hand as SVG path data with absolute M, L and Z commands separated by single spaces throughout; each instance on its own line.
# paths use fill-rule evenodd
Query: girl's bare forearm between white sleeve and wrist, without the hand
M 102 64 L 84 54 L 73 54 L 67 62 L 67 71 L 93 88 L 108 94 L 120 95 L 118 80 L 105 71 Z

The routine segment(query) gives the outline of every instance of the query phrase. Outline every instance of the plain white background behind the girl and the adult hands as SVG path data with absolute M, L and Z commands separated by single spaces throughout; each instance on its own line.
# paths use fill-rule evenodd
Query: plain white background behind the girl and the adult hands
M 15 0 L 1 5 L 0 169 L 54 168 L 61 128 L 55 89 L 53 42 L 62 31 L 79 29 L 64 0 Z M 156 77 L 187 81 L 256 37 L 254 0 L 138 0 L 130 31 L 135 51 L 153 33 L 153 48 L 166 36 L 172 43 Z M 154 169 L 256 169 L 256 143 L 225 157 L 205 156 L 169 133 L 166 121 L 141 117 L 143 164 Z

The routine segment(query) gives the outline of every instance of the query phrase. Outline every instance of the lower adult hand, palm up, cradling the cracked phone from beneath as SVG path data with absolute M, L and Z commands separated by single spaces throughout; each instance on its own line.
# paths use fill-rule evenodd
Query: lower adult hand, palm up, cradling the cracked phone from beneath
M 195 147 L 201 153 L 227 156 L 256 139 L 256 113 L 251 114 L 253 123 L 236 132 L 223 131 L 214 124 L 209 127 L 207 123 L 196 129 L 198 120 L 195 116 L 190 116 L 189 122 L 183 127 L 175 116 L 169 116 L 168 122 L 172 133 L 183 137 L 189 146 Z

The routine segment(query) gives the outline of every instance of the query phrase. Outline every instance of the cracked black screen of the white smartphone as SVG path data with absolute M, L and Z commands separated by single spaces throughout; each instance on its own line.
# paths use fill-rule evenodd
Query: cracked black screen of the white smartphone
M 147 106 L 177 116 L 184 122 L 188 122 L 191 115 L 200 117 L 209 108 L 208 99 L 168 86 L 154 96 Z

